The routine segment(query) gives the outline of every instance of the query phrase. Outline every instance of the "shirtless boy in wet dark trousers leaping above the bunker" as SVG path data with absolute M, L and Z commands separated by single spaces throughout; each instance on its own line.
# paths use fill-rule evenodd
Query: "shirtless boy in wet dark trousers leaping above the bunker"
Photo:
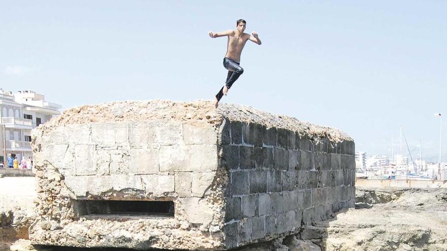
M 216 95 L 215 106 L 219 105 L 219 101 L 223 95 L 227 95 L 228 90 L 231 88 L 233 83 L 244 73 L 244 69 L 239 66 L 241 61 L 242 49 L 244 49 L 245 42 L 250 40 L 253 43 L 261 45 L 261 40 L 258 38 L 258 33 L 251 32 L 251 35 L 244 33 L 245 30 L 245 20 L 239 19 L 236 21 L 236 30 L 229 29 L 226 31 L 213 33 L 209 31 L 208 34 L 211 38 L 218 38 L 227 36 L 227 54 L 223 58 L 223 67 L 228 69 L 227 81 L 225 85 L 220 89 L 219 93 Z

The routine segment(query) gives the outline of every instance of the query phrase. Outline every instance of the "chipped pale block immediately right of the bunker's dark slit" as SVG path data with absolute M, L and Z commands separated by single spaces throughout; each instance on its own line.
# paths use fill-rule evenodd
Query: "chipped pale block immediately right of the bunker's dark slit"
M 208 225 L 213 220 L 214 213 L 206 200 L 197 197 L 178 198 L 186 213 L 186 220 L 193 224 Z

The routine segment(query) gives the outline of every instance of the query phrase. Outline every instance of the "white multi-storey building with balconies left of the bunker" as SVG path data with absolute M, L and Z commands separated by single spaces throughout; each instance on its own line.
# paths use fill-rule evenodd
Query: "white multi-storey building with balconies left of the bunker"
M 32 156 L 31 129 L 60 114 L 61 105 L 45 101 L 34 91 L 12 93 L 0 88 L 0 163 L 6 166 L 6 156 L 17 159 Z

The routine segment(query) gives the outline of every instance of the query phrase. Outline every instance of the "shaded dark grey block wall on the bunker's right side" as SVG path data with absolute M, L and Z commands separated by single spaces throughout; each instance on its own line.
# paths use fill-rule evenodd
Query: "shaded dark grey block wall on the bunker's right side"
M 221 164 L 227 247 L 326 220 L 355 203 L 354 141 L 330 141 L 258 123 L 226 121 Z

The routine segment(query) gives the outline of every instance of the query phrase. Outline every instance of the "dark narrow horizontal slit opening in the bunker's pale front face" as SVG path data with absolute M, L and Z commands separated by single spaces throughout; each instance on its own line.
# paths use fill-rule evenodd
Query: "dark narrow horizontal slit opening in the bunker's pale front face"
M 77 200 L 80 216 L 174 217 L 174 201 Z

